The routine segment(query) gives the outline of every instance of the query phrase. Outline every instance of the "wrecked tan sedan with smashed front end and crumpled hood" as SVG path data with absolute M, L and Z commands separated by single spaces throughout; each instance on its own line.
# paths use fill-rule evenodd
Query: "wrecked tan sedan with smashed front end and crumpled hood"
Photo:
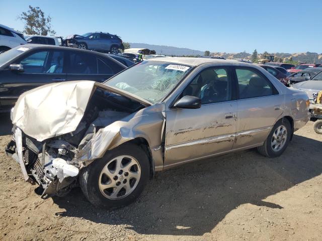
M 81 186 L 97 206 L 134 201 L 154 172 L 257 147 L 280 156 L 309 119 L 307 95 L 238 61 L 143 61 L 104 84 L 70 81 L 22 94 L 6 152 L 42 198 Z

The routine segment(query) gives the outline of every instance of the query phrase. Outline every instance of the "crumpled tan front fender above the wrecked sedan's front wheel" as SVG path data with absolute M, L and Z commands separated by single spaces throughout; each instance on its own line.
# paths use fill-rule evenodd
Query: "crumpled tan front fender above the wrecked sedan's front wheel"
M 155 169 L 163 167 L 162 135 L 165 125 L 164 104 L 156 104 L 130 114 L 122 121 L 100 129 L 87 145 L 79 151 L 75 160 L 82 166 L 88 166 L 95 159 L 102 158 L 106 151 L 136 138 L 147 141 Z

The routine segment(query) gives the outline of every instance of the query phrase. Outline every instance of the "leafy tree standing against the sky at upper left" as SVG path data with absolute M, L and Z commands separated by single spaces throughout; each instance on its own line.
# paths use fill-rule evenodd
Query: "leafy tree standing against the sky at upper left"
M 39 7 L 29 5 L 28 12 L 23 12 L 18 19 L 25 22 L 24 33 L 28 35 L 55 35 L 51 27 L 51 17 L 45 17 L 45 13 Z

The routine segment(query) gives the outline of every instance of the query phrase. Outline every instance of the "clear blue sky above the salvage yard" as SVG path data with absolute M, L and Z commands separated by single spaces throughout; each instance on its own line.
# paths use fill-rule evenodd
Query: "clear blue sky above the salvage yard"
M 28 5 L 58 36 L 102 31 L 125 42 L 211 52 L 322 52 L 322 0 L 0 0 L 0 24 L 23 30 Z

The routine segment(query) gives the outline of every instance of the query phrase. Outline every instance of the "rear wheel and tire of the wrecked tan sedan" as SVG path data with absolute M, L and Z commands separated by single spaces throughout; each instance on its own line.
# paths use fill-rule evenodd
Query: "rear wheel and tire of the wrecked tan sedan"
M 257 148 L 260 154 L 266 157 L 279 157 L 288 146 L 292 128 L 286 118 L 280 119 L 272 128 L 264 144 Z

